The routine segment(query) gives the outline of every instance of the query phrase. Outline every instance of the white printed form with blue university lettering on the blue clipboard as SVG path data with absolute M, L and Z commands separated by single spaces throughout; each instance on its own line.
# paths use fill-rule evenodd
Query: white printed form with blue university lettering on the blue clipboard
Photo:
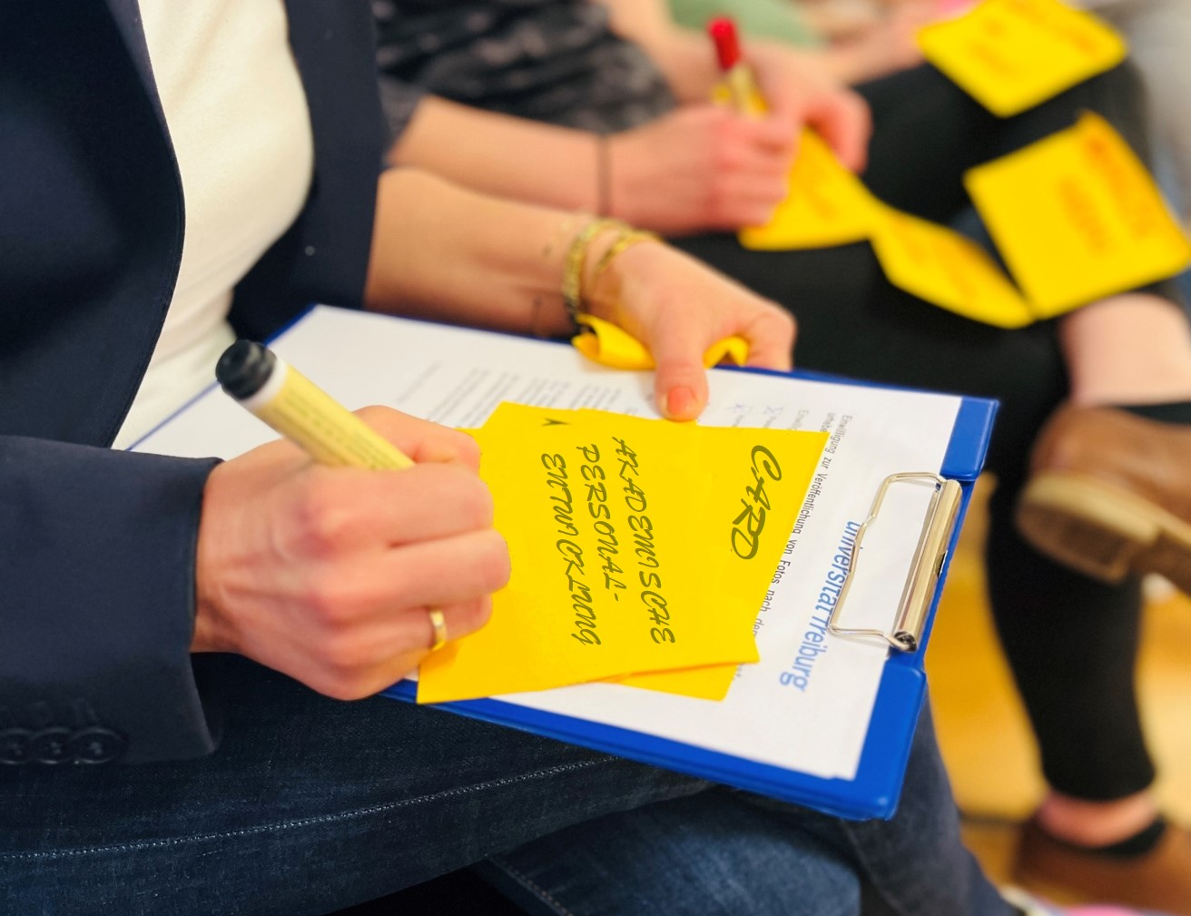
M 653 374 L 604 369 L 569 347 L 318 307 L 273 349 L 348 407 L 385 404 L 451 426 L 501 400 L 656 417 Z M 960 399 L 712 370 L 700 423 L 827 430 L 830 438 L 755 624 L 761 661 L 716 703 L 616 684 L 498 697 L 823 778 L 855 775 L 887 647 L 825 633 L 852 543 L 888 474 L 937 472 Z M 135 448 L 232 457 L 275 434 L 212 388 Z M 893 621 L 928 487 L 894 487 L 865 535 L 846 625 Z

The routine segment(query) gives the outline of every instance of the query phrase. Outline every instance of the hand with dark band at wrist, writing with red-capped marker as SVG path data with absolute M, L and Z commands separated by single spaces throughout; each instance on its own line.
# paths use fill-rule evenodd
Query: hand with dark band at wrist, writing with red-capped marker
M 612 216 L 667 235 L 763 225 L 786 195 L 798 131 L 687 105 L 609 143 Z

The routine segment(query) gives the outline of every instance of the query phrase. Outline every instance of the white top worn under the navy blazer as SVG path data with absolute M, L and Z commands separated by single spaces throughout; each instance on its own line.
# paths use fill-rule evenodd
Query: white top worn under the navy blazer
M 114 448 L 214 381 L 233 339 L 232 287 L 301 211 L 314 160 L 282 0 L 141 0 L 141 15 L 186 233 L 166 325 Z

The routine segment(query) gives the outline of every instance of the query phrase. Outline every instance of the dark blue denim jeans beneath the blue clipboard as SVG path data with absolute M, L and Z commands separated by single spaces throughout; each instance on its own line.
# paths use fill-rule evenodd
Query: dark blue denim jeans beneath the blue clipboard
M 0 769 L 0 912 L 326 914 L 487 860 L 559 914 L 1006 916 L 929 717 L 902 810 L 844 823 L 230 656 L 213 755 Z M 867 910 L 866 910 L 867 912 Z

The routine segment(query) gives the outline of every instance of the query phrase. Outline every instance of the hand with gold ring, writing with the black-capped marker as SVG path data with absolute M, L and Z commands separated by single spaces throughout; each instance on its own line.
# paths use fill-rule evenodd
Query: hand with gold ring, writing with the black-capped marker
M 375 693 L 434 642 L 482 627 L 509 579 L 479 449 L 397 411 L 361 411 L 418 462 L 326 468 L 273 442 L 218 466 L 199 525 L 193 652 L 235 652 L 339 699 Z

